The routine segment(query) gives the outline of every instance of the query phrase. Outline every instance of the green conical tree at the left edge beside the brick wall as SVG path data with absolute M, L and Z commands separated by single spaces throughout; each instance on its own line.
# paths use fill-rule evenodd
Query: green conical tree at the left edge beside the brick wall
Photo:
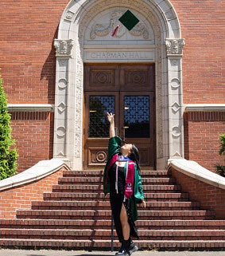
M 17 172 L 17 148 L 11 138 L 10 113 L 7 110 L 7 97 L 0 75 L 0 180 Z

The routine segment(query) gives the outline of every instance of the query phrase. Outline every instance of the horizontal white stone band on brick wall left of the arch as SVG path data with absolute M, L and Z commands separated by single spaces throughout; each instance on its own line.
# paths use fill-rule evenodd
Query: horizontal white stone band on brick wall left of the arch
M 54 112 L 52 104 L 7 104 L 9 112 Z

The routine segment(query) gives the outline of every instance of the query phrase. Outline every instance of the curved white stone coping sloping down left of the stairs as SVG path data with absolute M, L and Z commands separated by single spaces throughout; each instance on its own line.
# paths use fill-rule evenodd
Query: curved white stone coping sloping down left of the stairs
M 42 160 L 35 164 L 33 167 L 14 175 L 7 179 L 2 179 L 0 181 L 0 191 L 24 185 L 26 183 L 35 182 L 38 179 L 42 179 L 52 173 L 60 170 L 60 168 L 65 167 L 70 169 L 66 163 L 62 160 Z

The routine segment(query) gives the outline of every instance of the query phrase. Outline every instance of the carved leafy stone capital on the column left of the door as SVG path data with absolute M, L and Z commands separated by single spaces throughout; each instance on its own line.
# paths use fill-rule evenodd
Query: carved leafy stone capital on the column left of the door
M 56 48 L 56 57 L 71 57 L 72 54 L 72 39 L 68 40 L 54 40 L 54 46 Z

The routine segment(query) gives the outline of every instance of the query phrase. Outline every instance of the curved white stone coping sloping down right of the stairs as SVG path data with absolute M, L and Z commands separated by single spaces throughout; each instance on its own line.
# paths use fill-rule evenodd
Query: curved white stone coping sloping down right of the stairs
M 225 189 L 225 178 L 209 171 L 195 161 L 184 159 L 169 160 L 169 167 L 173 167 L 176 171 L 180 171 L 184 175 L 188 175 L 214 187 Z

